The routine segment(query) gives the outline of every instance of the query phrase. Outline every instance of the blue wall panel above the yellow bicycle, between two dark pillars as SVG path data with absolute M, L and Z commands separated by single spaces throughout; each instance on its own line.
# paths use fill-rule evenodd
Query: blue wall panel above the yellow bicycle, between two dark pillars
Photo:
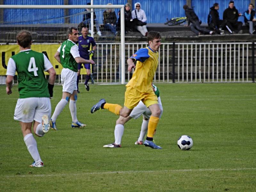
M 134 4 L 140 2 L 141 9 L 143 9 L 147 16 L 147 23 L 164 23 L 166 18 L 184 17 L 185 12 L 183 5 L 186 0 L 132 0 L 132 10 Z

